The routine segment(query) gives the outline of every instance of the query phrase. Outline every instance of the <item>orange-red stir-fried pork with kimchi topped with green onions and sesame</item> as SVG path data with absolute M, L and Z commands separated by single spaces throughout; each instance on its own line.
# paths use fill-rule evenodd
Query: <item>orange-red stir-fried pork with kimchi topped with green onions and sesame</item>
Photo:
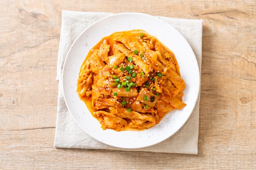
M 88 53 L 77 87 L 104 130 L 148 129 L 186 106 L 175 55 L 142 30 L 104 37 Z

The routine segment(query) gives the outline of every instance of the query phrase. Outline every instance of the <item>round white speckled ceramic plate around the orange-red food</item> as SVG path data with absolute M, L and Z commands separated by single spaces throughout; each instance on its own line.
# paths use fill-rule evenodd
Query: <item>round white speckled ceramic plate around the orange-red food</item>
M 159 124 L 144 131 L 114 131 L 101 129 L 80 100 L 76 83 L 80 67 L 88 51 L 103 37 L 117 31 L 142 29 L 159 39 L 172 50 L 180 65 L 186 83 L 183 101 L 186 107 L 168 113 Z M 89 26 L 76 38 L 65 59 L 63 68 L 63 93 L 68 110 L 77 124 L 100 142 L 119 148 L 143 148 L 162 142 L 177 132 L 191 115 L 198 99 L 200 74 L 195 54 L 184 37 L 170 24 L 143 13 L 119 13 L 105 17 Z

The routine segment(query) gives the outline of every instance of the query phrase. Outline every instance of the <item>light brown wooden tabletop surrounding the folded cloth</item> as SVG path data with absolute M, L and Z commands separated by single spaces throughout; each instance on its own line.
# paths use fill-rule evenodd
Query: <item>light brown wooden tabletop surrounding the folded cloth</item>
M 53 147 L 61 11 L 202 19 L 198 155 Z M 2 0 L 0 169 L 256 169 L 255 0 Z

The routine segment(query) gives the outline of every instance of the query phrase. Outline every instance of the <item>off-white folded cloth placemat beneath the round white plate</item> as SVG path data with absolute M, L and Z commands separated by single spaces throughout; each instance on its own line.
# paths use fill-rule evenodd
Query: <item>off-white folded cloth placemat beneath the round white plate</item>
M 59 88 L 54 147 L 197 154 L 200 95 L 189 120 L 177 133 L 159 144 L 146 148 L 122 149 L 103 144 L 85 133 L 73 120 L 66 107 L 62 91 L 61 74 L 65 57 L 73 41 L 85 28 L 108 15 L 112 14 L 62 11 L 61 37 L 57 65 Z M 169 17 L 159 18 L 176 28 L 185 37 L 195 53 L 201 70 L 202 20 L 186 20 Z

